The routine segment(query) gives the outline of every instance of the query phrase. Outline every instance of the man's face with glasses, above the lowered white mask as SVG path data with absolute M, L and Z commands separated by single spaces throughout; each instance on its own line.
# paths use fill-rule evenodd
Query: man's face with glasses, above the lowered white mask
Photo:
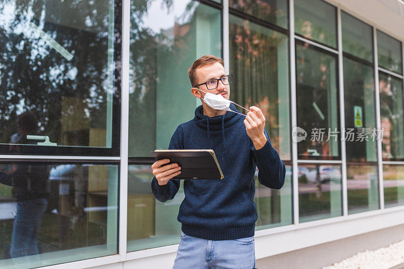
M 207 65 L 196 70 L 196 84 L 204 83 L 212 79 L 220 79 L 225 76 L 226 72 L 224 67 L 220 63 L 214 63 L 212 65 Z M 218 87 L 213 90 L 209 90 L 206 84 L 198 86 L 199 89 L 210 92 L 213 94 L 221 94 L 224 98 L 230 98 L 230 85 L 223 85 L 222 81 L 219 80 Z M 202 98 L 205 96 L 205 92 L 201 92 Z

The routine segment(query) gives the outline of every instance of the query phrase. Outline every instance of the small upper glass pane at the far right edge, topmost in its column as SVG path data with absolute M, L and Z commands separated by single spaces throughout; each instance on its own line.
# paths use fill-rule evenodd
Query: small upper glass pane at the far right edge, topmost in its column
M 401 42 L 377 31 L 377 54 L 379 66 L 402 75 Z

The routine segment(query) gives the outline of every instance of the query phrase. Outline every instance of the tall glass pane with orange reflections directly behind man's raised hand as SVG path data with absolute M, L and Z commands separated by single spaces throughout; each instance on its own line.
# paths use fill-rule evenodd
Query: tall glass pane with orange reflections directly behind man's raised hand
M 289 53 L 285 34 L 230 15 L 230 99 L 260 107 L 282 159 L 290 159 Z

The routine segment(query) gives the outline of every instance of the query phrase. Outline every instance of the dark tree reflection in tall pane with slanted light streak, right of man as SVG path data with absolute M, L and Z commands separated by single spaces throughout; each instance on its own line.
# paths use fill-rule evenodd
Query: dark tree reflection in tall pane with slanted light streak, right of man
M 307 43 L 296 45 L 296 90 L 299 96 L 297 126 L 305 129 L 309 137 L 314 128 L 325 128 L 323 141 L 306 139 L 297 144 L 301 156 L 311 155 L 308 149 L 316 149 L 322 156 L 330 155 L 329 143 L 334 141 L 334 138 L 326 142 L 328 128 L 334 131 L 336 127 L 330 126 L 329 119 L 336 117 L 329 115 L 329 107 L 333 101 L 336 103 L 336 100 L 331 100 L 330 97 L 336 94 L 336 88 L 332 84 L 336 74 L 332 70 L 335 70 L 334 57 L 311 49 Z

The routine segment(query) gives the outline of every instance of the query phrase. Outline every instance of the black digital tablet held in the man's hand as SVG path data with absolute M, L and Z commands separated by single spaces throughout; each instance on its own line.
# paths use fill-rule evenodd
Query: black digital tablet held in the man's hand
M 173 179 L 223 179 L 212 149 L 156 149 L 150 153 L 156 160 L 170 159 L 167 165 L 178 164 L 181 167 L 181 173 Z

